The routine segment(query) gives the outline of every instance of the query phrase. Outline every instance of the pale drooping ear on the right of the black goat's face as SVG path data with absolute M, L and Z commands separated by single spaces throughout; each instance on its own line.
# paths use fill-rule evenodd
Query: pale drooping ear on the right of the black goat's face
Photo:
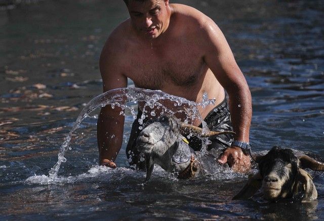
M 298 181 L 301 182 L 303 191 L 302 202 L 310 202 L 317 199 L 317 191 L 312 177 L 303 169 L 298 171 Z

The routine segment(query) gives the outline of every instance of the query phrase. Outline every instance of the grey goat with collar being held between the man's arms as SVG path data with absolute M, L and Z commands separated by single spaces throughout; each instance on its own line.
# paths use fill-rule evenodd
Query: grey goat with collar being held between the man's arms
M 137 149 L 145 158 L 145 182 L 149 180 L 154 164 L 158 164 L 168 172 L 178 173 L 178 178 L 189 178 L 199 173 L 200 166 L 194 158 L 194 151 L 181 134 L 188 130 L 202 137 L 234 133 L 233 131 L 204 133 L 203 129 L 181 123 L 174 116 L 161 116 L 157 121 L 145 126 L 136 140 Z

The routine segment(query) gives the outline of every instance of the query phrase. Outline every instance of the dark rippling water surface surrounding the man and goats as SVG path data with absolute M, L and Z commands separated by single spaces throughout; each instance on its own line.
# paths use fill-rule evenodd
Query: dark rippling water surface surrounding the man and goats
M 0 11 L 0 219 L 324 219 L 321 172 L 312 173 L 313 203 L 269 203 L 232 201 L 247 176 L 227 168 L 194 180 L 157 168 L 143 186 L 145 174 L 126 168 L 126 142 L 117 169 L 99 167 L 95 118 L 81 124 L 49 180 L 78 113 L 102 91 L 99 54 L 128 13 L 122 1 L 35 2 Z M 173 2 L 223 30 L 252 91 L 254 150 L 281 145 L 323 156 L 324 2 Z

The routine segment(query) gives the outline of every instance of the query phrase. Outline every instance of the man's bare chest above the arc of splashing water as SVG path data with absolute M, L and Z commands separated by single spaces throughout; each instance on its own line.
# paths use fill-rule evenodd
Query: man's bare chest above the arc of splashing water
M 203 54 L 189 44 L 131 50 L 127 57 L 127 77 L 142 88 L 194 85 L 207 70 Z

